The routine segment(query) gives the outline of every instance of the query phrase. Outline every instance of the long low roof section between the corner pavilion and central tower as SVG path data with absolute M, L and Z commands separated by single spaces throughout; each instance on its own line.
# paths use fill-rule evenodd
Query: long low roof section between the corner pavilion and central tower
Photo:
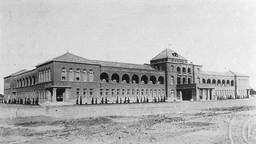
M 132 64 L 132 63 L 118 63 L 112 61 L 98 61 L 93 60 L 100 63 L 101 66 L 104 67 L 120 67 L 120 68 L 130 68 L 130 69 L 145 69 L 145 70 L 158 70 L 150 65 L 139 65 L 139 64 Z

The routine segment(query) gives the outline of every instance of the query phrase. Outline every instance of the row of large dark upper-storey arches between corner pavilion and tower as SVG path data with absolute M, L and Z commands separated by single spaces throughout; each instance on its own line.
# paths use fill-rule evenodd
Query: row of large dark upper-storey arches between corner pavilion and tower
M 132 81 L 130 82 L 130 76 L 128 74 L 123 74 L 121 79 L 120 76 L 117 73 L 113 73 L 111 75 L 111 79 L 109 79 L 108 73 L 101 73 L 100 74 L 100 81 L 108 83 L 111 80 L 113 83 L 120 83 L 120 80 L 122 83 L 139 83 L 141 81 L 142 84 L 164 84 L 164 77 L 160 76 L 158 79 L 156 79 L 156 76 L 151 75 L 148 79 L 147 75 L 142 75 L 140 78 L 138 75 L 134 74 L 132 75 Z M 148 81 L 149 80 L 149 81 Z

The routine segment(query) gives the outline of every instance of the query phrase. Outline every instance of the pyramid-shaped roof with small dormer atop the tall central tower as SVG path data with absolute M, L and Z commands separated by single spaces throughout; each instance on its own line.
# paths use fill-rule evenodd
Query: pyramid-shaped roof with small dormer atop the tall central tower
M 171 50 L 171 49 L 164 49 L 161 53 L 156 55 L 156 57 L 151 59 L 151 61 L 156 60 L 156 59 L 163 59 L 163 58 L 181 59 L 181 60 L 186 60 L 187 61 L 187 59 L 185 59 L 184 57 L 182 57 L 178 53 L 177 53 L 178 56 L 174 56 L 174 53 L 176 53 L 176 52 Z

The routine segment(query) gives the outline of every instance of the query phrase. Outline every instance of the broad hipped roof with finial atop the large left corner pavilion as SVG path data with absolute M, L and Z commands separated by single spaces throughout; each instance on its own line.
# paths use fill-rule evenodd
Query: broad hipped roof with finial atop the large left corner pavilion
M 50 61 L 64 61 L 64 62 L 75 62 L 75 63 L 86 63 L 86 64 L 94 64 L 94 65 L 99 65 L 99 63 L 89 60 L 89 59 L 85 59 L 83 57 L 79 57 L 77 55 L 71 54 L 71 53 L 64 53 L 63 55 L 60 55 L 58 57 L 55 57 L 53 59 L 50 59 L 48 61 L 45 61 L 44 63 L 40 63 L 36 66 L 48 63 Z

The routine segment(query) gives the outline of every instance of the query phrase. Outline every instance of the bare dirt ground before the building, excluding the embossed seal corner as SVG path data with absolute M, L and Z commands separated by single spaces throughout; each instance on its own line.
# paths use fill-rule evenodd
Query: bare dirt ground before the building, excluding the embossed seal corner
M 58 107 L 47 116 L 0 119 L 0 143 L 229 144 L 230 119 L 255 116 L 255 107 L 256 99 L 72 107 L 92 115 Z

